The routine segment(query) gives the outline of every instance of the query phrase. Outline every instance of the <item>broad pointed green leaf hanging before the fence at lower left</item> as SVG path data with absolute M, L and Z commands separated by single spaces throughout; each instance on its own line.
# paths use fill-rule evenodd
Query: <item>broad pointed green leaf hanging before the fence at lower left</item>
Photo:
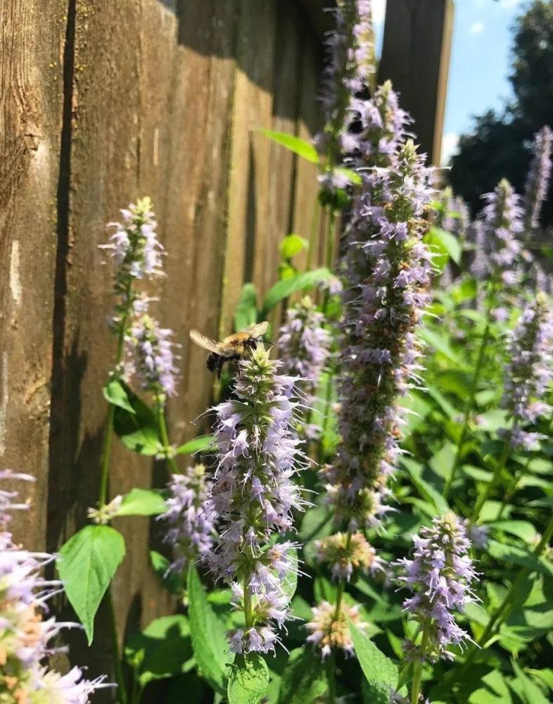
M 94 616 L 125 557 L 123 536 L 109 526 L 86 526 L 61 548 L 56 560 L 65 593 L 90 643 Z

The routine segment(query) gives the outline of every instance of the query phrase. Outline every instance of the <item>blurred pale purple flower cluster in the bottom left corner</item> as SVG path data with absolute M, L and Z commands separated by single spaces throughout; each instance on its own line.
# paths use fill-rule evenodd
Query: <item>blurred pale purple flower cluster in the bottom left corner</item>
M 33 481 L 28 474 L 10 470 L 1 471 L 0 479 Z M 27 508 L 25 503 L 15 503 L 17 496 L 0 489 L 0 701 L 87 704 L 89 695 L 105 686 L 104 677 L 89 681 L 79 667 L 60 674 L 42 665 L 55 652 L 52 639 L 61 629 L 77 624 L 44 620 L 46 603 L 62 585 L 41 576 L 53 555 L 32 553 L 13 543 L 6 529 L 9 512 Z

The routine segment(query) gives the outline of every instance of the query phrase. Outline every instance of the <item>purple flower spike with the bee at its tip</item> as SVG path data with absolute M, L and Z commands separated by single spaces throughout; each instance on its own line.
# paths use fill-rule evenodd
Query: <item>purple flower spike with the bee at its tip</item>
M 295 378 L 260 345 L 240 363 L 236 398 L 215 408 L 218 463 L 210 491 L 220 538 L 208 555 L 217 579 L 232 585 L 243 628 L 229 632 L 235 653 L 274 650 L 290 617 L 287 585 L 297 546 L 271 543 L 292 527 L 292 510 L 305 501 L 292 479 L 306 458 L 293 430 Z

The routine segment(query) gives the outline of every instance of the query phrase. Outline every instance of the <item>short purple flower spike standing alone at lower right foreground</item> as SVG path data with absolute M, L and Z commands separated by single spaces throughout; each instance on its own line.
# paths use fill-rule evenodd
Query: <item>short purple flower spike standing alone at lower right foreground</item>
M 421 528 L 413 541 L 413 559 L 395 562 L 401 572 L 398 581 L 414 595 L 403 602 L 403 608 L 421 624 L 425 636 L 424 650 L 409 645 L 410 657 L 452 658 L 447 648 L 469 639 L 455 622 L 455 611 L 476 601 L 471 590 L 476 577 L 468 555 L 471 543 L 453 513 L 435 518 L 432 527 Z

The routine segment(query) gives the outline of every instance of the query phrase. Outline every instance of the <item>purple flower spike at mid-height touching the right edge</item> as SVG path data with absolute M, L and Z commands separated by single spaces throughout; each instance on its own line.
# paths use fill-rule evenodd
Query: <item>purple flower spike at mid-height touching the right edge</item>
M 502 408 L 514 420 L 511 445 L 529 450 L 542 439 L 536 432 L 523 430 L 538 417 L 551 413 L 542 401 L 553 378 L 553 316 L 545 294 L 538 294 L 519 318 L 509 341 L 509 363 L 505 367 Z

